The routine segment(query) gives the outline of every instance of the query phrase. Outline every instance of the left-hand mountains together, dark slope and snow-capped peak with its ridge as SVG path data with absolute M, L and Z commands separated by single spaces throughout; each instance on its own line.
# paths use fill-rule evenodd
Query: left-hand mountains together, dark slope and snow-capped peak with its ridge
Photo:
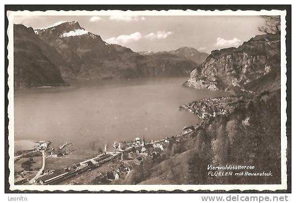
M 197 66 L 184 57 L 142 56 L 130 48 L 106 43 L 77 21 L 35 30 L 15 25 L 14 35 L 15 87 L 53 86 L 71 80 L 180 77 Z M 35 52 L 44 57 L 40 59 Z M 49 64 L 53 64 L 52 69 Z

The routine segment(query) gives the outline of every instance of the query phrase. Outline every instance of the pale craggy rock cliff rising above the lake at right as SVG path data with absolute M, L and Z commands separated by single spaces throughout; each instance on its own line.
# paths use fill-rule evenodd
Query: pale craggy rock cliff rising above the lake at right
M 280 36 L 265 34 L 237 48 L 214 50 L 183 85 L 232 92 L 264 91 L 280 87 L 279 74 Z

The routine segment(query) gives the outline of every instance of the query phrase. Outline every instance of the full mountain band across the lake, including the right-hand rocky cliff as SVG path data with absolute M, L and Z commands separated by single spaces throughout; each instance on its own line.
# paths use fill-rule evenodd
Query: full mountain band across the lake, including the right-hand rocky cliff
M 184 77 L 186 87 L 254 91 L 280 87 L 280 36 L 258 35 L 210 55 L 183 46 L 133 52 L 109 44 L 77 21 L 32 29 L 14 25 L 14 86 L 59 86 L 73 80 Z M 260 85 L 259 85 L 260 84 Z

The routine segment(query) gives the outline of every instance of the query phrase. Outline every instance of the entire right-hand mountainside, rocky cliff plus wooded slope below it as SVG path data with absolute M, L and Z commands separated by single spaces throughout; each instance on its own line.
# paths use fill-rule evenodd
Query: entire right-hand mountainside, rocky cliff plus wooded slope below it
M 245 89 L 255 93 L 189 103 L 190 112 L 205 112 L 210 116 L 201 118 L 201 126 L 190 136 L 179 138 L 177 142 L 170 139 L 159 160 L 146 158 L 123 180 L 123 184 L 279 184 L 279 36 L 259 35 L 238 48 L 212 52 L 191 72 L 184 85 L 235 93 Z M 256 178 L 251 175 L 211 175 L 228 171 L 210 169 L 211 165 L 255 166 L 254 170 L 245 171 L 272 175 L 257 175 Z M 229 171 L 233 174 L 241 172 L 240 169 Z

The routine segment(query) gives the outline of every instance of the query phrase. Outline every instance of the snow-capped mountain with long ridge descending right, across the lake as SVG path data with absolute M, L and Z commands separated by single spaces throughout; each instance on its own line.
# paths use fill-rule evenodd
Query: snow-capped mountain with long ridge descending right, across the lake
M 71 72 L 65 80 L 187 76 L 196 63 L 174 55 L 141 56 L 81 28 L 77 21 L 64 22 L 35 33 L 54 47 Z

